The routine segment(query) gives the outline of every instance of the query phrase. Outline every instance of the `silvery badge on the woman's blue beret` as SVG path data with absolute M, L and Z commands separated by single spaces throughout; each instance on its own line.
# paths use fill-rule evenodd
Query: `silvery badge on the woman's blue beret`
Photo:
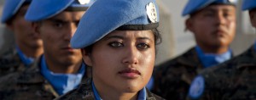
M 148 14 L 148 19 L 152 23 L 157 22 L 157 12 L 154 3 L 148 3 L 146 6 L 147 14 Z

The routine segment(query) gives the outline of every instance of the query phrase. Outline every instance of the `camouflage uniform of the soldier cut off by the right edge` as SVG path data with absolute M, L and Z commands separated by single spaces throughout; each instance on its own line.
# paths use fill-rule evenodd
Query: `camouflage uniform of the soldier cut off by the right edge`
M 206 100 L 255 100 L 256 53 L 251 47 L 247 52 L 202 71 Z

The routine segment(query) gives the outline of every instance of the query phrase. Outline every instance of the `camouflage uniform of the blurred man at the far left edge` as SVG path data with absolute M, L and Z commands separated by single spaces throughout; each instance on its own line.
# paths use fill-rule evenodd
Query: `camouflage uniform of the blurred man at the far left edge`
M 31 65 L 29 65 L 31 66 Z M 0 77 L 3 75 L 8 75 L 10 73 L 15 73 L 18 71 L 23 71 L 26 69 L 25 64 L 20 60 L 20 57 L 15 49 L 9 48 L 9 51 L 3 53 L 0 57 Z

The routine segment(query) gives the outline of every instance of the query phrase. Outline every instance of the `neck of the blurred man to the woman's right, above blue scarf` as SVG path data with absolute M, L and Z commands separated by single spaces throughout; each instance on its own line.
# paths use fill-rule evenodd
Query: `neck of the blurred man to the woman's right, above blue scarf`
M 228 46 L 223 46 L 223 47 L 207 47 L 207 46 L 200 46 L 199 47 L 201 48 L 201 50 L 204 52 L 204 53 L 214 53 L 214 54 L 222 54 L 222 53 L 226 53 L 229 51 L 229 47 Z

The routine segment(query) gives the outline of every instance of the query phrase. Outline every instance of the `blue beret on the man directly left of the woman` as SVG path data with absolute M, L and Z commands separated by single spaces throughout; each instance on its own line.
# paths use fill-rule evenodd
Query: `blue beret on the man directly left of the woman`
M 67 8 L 81 8 L 85 11 L 92 3 L 94 0 L 33 0 L 25 19 L 30 21 L 49 19 Z

